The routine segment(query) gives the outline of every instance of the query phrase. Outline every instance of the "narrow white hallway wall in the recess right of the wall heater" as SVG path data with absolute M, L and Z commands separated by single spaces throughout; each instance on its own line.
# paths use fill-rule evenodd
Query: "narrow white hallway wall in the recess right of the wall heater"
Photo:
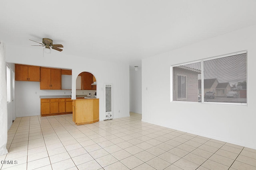
M 130 111 L 142 113 L 142 92 L 141 92 L 141 66 L 135 71 L 134 66 L 130 66 Z

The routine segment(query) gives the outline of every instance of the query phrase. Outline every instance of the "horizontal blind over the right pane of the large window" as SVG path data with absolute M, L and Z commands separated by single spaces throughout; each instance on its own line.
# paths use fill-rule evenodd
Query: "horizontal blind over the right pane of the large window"
M 204 102 L 247 103 L 247 53 L 204 62 Z

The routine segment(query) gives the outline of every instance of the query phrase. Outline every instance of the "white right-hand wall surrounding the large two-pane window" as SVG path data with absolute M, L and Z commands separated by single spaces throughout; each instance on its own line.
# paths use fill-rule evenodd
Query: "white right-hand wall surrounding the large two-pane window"
M 256 149 L 255 30 L 256 25 L 143 59 L 142 121 Z M 170 102 L 172 64 L 243 50 L 248 50 L 248 106 Z

